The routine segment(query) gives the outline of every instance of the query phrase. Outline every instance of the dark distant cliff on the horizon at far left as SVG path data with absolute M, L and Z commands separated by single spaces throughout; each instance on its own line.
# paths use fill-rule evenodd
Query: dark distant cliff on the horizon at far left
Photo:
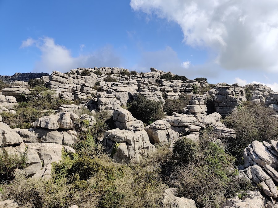
M 13 81 L 24 81 L 28 82 L 30 79 L 41 78 L 42 76 L 49 76 L 48 73 L 15 73 L 12 76 L 0 75 L 0 80 L 3 80 L 6 83 L 11 83 Z

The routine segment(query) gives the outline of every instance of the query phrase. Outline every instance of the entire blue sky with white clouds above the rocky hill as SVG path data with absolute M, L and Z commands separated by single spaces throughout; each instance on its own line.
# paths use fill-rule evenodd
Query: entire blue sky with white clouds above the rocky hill
M 0 0 L 0 74 L 155 67 L 277 91 L 276 2 Z

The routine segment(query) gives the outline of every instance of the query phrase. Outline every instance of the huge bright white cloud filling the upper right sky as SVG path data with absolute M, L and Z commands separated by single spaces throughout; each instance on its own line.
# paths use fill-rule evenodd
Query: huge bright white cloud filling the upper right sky
M 225 69 L 278 72 L 277 0 L 131 0 L 133 10 L 177 22 L 184 42 Z

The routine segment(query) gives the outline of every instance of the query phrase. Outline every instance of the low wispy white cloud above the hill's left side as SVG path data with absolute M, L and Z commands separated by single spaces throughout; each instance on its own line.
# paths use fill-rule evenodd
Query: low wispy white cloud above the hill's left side
M 31 44 L 32 43 L 32 44 Z M 90 54 L 81 54 L 77 57 L 65 46 L 55 43 L 54 39 L 43 37 L 38 40 L 23 41 L 24 47 L 35 45 L 41 52 L 40 60 L 35 63 L 34 71 L 51 73 L 52 71 L 66 72 L 78 67 L 120 66 L 120 57 L 116 55 L 113 47 L 107 45 Z M 85 47 L 80 46 L 80 49 Z

